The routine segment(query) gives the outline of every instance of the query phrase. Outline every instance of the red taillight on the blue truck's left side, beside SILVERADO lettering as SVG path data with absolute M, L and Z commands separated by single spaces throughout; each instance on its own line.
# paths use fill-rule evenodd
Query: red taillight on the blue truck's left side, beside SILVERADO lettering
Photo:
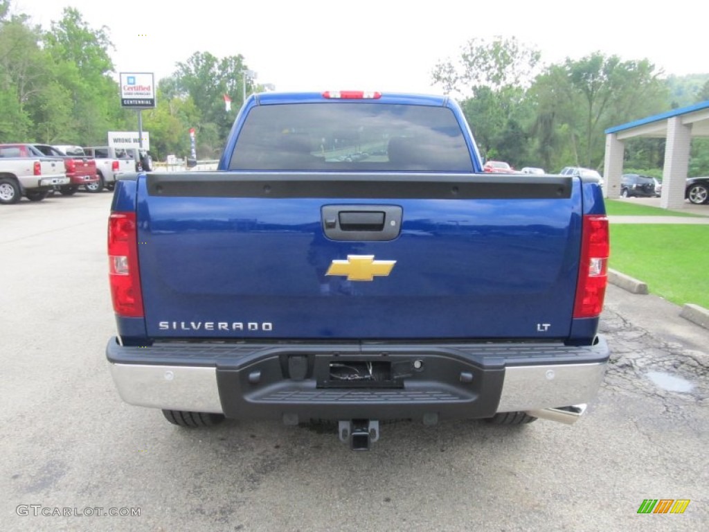
M 119 316 L 142 318 L 138 226 L 133 212 L 116 212 L 108 218 L 108 279 L 113 311 Z

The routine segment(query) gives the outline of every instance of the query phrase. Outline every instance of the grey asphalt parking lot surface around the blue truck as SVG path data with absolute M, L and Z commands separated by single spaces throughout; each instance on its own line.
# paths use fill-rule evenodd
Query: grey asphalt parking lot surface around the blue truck
M 110 201 L 0 209 L 2 531 L 709 529 L 709 331 L 676 307 L 609 287 L 612 361 L 573 426 L 401 421 L 368 453 L 322 426 L 189 431 L 109 375 Z

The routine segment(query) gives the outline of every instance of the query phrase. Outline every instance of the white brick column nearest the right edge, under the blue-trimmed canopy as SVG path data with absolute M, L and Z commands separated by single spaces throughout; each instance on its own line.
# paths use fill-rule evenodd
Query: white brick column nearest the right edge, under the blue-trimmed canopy
M 692 126 L 685 126 L 679 116 L 667 121 L 665 165 L 662 170 L 663 209 L 683 209 L 684 189 L 689 167 L 689 149 L 692 143 Z

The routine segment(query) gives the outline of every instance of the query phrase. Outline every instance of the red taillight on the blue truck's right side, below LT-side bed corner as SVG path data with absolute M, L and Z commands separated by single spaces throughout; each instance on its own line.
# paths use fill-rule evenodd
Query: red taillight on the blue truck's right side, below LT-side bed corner
M 584 216 L 582 231 L 574 318 L 595 318 L 603 310 L 605 287 L 608 284 L 608 217 L 603 214 L 587 214 Z

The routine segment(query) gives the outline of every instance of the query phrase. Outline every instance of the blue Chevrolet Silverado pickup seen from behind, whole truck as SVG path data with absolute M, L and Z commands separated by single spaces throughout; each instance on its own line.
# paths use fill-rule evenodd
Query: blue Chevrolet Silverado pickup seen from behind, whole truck
M 447 97 L 256 94 L 217 171 L 118 179 L 106 355 L 179 426 L 573 423 L 608 251 L 596 180 L 484 173 Z

